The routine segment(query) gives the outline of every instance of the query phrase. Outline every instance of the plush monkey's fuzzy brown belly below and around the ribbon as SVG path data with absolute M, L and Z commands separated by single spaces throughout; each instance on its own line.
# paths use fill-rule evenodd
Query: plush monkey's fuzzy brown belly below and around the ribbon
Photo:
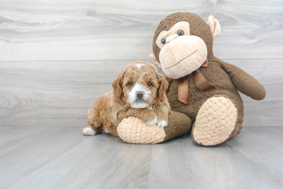
M 213 71 L 212 71 L 213 70 Z M 175 79 L 170 90 L 167 93 L 167 98 L 170 103 L 172 111 L 184 113 L 192 119 L 192 122 L 196 120 L 196 116 L 202 104 L 213 96 L 224 96 L 229 98 L 236 106 L 238 110 L 238 122 L 243 122 L 243 102 L 237 91 L 232 84 L 229 76 L 224 70 L 219 69 L 218 66 L 211 63 L 211 68 L 200 68 L 207 82 L 216 89 L 208 91 L 201 91 L 193 78 L 193 75 L 189 76 L 189 105 L 178 100 L 178 85 L 179 79 Z M 213 75 L 211 73 L 218 72 L 220 74 Z M 209 73 L 209 74 L 207 74 Z M 219 77 L 219 78 L 218 78 Z M 228 78 L 227 78 L 228 77 Z M 211 80 L 212 79 L 212 80 Z

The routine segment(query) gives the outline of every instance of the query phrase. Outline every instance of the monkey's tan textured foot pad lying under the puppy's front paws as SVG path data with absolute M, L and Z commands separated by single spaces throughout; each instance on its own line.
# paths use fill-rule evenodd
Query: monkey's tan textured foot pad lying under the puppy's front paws
M 164 141 L 166 136 L 163 128 L 148 126 L 136 117 L 124 118 L 117 128 L 120 138 L 127 143 L 156 144 Z

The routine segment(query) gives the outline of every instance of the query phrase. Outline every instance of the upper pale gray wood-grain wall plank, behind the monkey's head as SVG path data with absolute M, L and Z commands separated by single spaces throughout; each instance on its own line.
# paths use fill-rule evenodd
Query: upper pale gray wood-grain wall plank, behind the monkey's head
M 0 61 L 148 59 L 159 22 L 214 15 L 221 59 L 283 58 L 283 1 L 1 0 Z

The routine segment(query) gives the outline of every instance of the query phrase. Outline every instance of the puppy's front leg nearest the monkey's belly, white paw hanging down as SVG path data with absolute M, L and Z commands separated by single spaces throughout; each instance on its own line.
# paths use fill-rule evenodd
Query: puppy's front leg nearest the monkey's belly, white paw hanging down
M 170 105 L 162 104 L 160 106 L 157 106 L 154 112 L 157 115 L 156 124 L 162 128 L 166 127 L 168 125 L 168 114 L 172 112 L 170 109 Z

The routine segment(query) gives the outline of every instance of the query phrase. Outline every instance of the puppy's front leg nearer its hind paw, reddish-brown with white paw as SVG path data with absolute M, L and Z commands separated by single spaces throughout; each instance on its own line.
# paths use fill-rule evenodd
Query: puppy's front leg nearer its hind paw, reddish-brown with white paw
M 149 108 L 134 110 L 134 114 L 132 115 L 132 117 L 137 117 L 141 119 L 147 125 L 154 125 L 156 124 L 157 121 L 156 114 L 154 113 L 153 110 Z

